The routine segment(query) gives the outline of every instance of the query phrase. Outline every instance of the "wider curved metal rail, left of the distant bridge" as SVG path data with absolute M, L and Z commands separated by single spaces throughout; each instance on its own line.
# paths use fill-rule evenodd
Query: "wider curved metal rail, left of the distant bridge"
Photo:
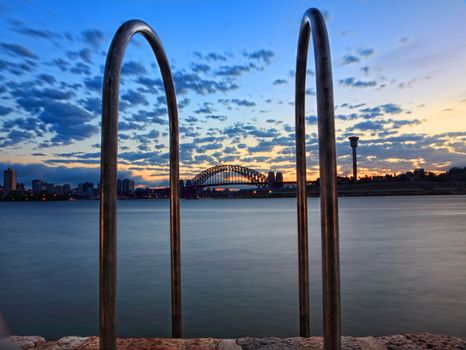
M 149 42 L 160 67 L 167 98 L 170 124 L 170 245 L 172 336 L 181 337 L 180 205 L 178 110 L 175 87 L 162 43 L 146 23 L 132 20 L 116 32 L 105 63 L 102 96 L 102 150 L 100 173 L 100 348 L 113 350 L 115 344 L 116 235 L 117 235 L 117 152 L 118 93 L 120 71 L 126 46 L 134 34 Z

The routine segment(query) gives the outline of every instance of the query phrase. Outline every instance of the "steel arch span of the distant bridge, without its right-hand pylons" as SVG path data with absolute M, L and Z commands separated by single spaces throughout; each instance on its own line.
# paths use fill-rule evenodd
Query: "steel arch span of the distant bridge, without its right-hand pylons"
M 226 181 L 224 176 L 225 174 L 227 175 L 227 178 L 232 180 Z M 217 175 L 223 176 L 216 177 Z M 246 178 L 251 184 L 254 184 L 261 189 L 267 187 L 267 176 L 254 169 L 235 164 L 216 165 L 206 169 L 191 179 L 191 186 L 206 187 L 241 184 L 244 181 L 235 181 L 235 179 L 239 179 L 239 177 Z

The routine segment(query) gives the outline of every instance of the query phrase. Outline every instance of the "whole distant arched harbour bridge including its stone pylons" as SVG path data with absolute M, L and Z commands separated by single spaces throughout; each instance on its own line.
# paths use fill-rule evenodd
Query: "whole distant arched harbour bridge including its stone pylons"
M 187 180 L 185 186 L 202 188 L 227 185 L 255 185 L 259 189 L 267 189 L 282 187 L 286 183 L 294 182 L 284 182 L 281 172 L 274 173 L 270 171 L 266 176 L 254 169 L 241 165 L 221 164 L 200 172 L 191 180 Z

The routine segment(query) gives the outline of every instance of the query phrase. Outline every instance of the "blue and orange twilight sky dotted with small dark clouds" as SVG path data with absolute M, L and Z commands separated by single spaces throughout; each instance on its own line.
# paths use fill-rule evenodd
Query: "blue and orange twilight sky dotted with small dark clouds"
M 294 69 L 303 13 L 326 19 L 339 175 L 360 137 L 361 175 L 466 166 L 466 2 L 0 1 L 0 168 L 18 182 L 99 178 L 101 89 L 111 39 L 141 19 L 168 56 L 180 115 L 181 178 L 217 164 L 295 176 Z M 167 184 L 168 115 L 149 45 L 122 67 L 120 177 Z M 308 179 L 318 177 L 315 76 L 306 96 Z

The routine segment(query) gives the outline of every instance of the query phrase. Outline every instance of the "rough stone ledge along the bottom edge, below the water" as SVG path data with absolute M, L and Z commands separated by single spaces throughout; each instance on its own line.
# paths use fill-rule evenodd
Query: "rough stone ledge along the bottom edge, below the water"
M 320 350 L 322 337 L 163 339 L 119 338 L 121 350 Z M 39 336 L 12 336 L 0 339 L 1 350 L 98 350 L 97 337 L 64 337 L 47 341 Z M 466 350 L 466 340 L 431 333 L 399 334 L 383 337 L 343 337 L 344 350 Z

